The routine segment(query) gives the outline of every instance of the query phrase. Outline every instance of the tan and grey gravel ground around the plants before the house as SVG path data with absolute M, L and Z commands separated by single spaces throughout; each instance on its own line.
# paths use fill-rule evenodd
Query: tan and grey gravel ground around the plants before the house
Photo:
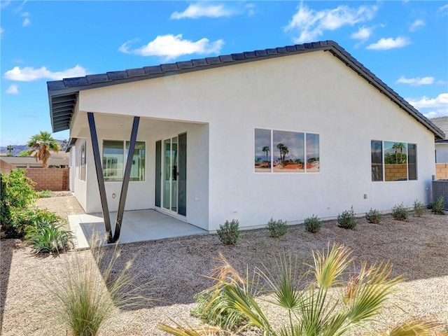
M 83 212 L 71 195 L 41 199 L 38 206 L 61 216 Z M 139 284 L 154 281 L 151 291 L 157 301 L 153 307 L 119 311 L 104 325 L 100 336 L 166 335 L 155 325 L 169 323 L 169 318 L 197 323 L 189 314 L 195 307 L 193 295 L 211 285 L 202 275 L 210 274 L 218 251 L 244 274 L 246 265 L 264 264 L 274 269 L 281 251 L 309 263 L 311 250 L 321 250 L 335 241 L 349 246 L 357 260 L 391 260 L 392 275 L 405 276 L 406 281 L 398 286 L 400 290 L 381 317 L 383 326 L 423 316 L 442 323 L 440 330 L 448 326 L 448 216 L 411 216 L 406 222 L 384 216 L 379 225 L 358 218 L 356 230 L 344 230 L 335 221 L 328 221 L 316 235 L 297 225 L 283 237 L 268 236 L 267 230 L 245 231 L 236 246 L 223 246 L 216 235 L 123 245 L 117 267 L 133 260 L 131 271 L 139 274 Z M 49 274 L 60 272 L 73 252 L 57 258 L 36 257 L 17 239 L 2 240 L 0 247 L 0 334 L 66 335 L 66 328 L 55 320 L 55 304 L 44 284 Z M 92 258 L 90 251 L 78 253 Z M 279 316 L 276 311 L 269 314 L 274 319 Z M 373 324 L 368 332 L 377 330 L 379 326 Z

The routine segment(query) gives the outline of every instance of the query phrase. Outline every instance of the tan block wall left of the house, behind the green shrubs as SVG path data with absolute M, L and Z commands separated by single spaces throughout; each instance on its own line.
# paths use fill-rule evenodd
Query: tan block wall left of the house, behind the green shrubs
M 25 175 L 36 183 L 35 190 L 69 190 L 69 168 L 27 168 Z

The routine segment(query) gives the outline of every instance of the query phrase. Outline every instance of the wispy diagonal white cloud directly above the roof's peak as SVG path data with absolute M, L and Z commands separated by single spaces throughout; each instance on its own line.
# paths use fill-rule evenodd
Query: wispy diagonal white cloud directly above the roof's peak
M 337 8 L 314 10 L 303 3 L 284 28 L 284 31 L 294 31 L 298 34 L 295 43 L 316 41 L 325 30 L 336 30 L 345 25 L 356 25 L 359 22 L 372 20 L 377 12 L 377 6 L 337 6 Z

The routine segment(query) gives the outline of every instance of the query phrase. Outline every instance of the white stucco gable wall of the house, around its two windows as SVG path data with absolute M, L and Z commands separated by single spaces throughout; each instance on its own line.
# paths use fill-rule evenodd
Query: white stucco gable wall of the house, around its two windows
M 202 162 L 208 168 L 206 176 L 189 161 L 188 167 L 193 165 L 193 169 L 188 169 L 188 181 L 200 186 L 194 192 L 189 189 L 188 211 L 196 204 L 192 211 L 202 218 L 198 226 L 204 227 L 207 214 L 209 230 L 232 218 L 251 227 L 263 225 L 271 217 L 290 222 L 312 214 L 334 218 L 351 206 L 357 213 L 370 208 L 389 211 L 401 202 L 411 207 L 414 200 L 428 202 L 435 174 L 434 135 L 328 52 L 81 91 L 79 109 L 83 113 L 208 124 L 208 128 L 188 131 L 189 160 L 193 148 L 198 147 L 195 160 L 208 153 Z M 83 118 L 80 113 L 78 123 Z M 255 174 L 254 127 L 320 134 L 321 172 Z M 83 127 L 78 130 L 81 134 Z M 111 134 L 110 127 L 99 131 L 99 138 L 110 139 L 108 132 Z M 204 144 L 207 137 L 208 144 Z M 418 180 L 372 182 L 372 139 L 417 144 Z M 147 146 L 148 152 L 153 151 L 151 146 Z M 130 188 L 136 191 L 135 198 L 128 198 L 132 207 L 151 207 L 151 197 L 139 198 L 144 189 Z M 195 193 L 208 196 L 208 207 L 193 201 L 198 198 Z M 197 219 L 193 216 L 188 221 L 196 224 Z

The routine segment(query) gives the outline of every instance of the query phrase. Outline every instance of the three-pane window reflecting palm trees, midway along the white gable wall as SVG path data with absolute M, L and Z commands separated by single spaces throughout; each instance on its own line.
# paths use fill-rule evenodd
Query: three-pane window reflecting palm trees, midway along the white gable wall
M 319 172 L 319 136 L 255 128 L 255 172 Z

